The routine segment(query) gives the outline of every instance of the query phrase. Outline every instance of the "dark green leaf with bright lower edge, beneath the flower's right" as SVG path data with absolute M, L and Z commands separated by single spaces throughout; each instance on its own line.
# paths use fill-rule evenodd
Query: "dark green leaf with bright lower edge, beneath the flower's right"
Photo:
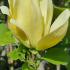
M 43 59 L 46 61 L 52 63 L 52 64 L 62 64 L 67 65 L 68 64 L 68 53 L 66 52 L 67 45 L 57 45 L 54 48 L 48 49 L 47 54 Z

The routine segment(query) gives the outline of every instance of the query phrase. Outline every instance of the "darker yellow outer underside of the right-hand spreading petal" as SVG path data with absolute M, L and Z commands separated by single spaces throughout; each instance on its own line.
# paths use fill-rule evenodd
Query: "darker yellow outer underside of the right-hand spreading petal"
M 64 38 L 68 28 L 68 22 L 65 22 L 60 28 L 41 39 L 37 45 L 37 50 L 45 50 L 58 44 Z

